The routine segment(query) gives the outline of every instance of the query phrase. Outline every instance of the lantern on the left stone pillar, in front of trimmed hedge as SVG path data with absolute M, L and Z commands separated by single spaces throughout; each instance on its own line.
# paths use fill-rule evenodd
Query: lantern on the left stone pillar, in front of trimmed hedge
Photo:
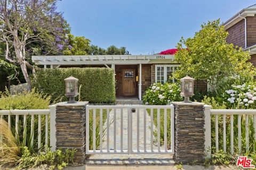
M 78 95 L 78 79 L 69 77 L 65 80 L 66 96 L 69 98 L 68 103 L 76 103 L 75 97 Z

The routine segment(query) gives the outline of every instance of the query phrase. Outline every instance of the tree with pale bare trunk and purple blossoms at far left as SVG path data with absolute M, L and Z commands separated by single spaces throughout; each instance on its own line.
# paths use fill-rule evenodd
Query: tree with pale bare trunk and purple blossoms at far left
M 27 68 L 34 72 L 34 67 L 26 57 L 26 46 L 46 41 L 46 35 L 58 35 L 62 30 L 65 20 L 56 11 L 56 2 L 57 0 L 0 0 L 0 40 L 5 43 L 5 58 L 20 65 L 29 87 L 31 85 Z M 55 38 L 57 42 L 60 40 L 58 36 Z M 57 48 L 61 49 L 63 46 Z

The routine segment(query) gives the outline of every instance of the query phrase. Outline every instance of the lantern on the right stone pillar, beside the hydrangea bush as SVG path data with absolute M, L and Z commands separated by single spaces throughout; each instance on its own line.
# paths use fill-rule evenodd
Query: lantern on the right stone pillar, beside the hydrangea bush
M 194 80 L 190 78 L 188 75 L 182 79 L 180 79 L 181 92 L 180 96 L 184 97 L 184 103 L 191 103 L 189 101 L 189 97 L 194 96 Z

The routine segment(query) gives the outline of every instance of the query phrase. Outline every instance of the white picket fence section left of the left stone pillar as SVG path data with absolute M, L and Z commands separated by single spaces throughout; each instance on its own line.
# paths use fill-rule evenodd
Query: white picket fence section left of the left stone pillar
M 38 116 L 38 132 L 36 135 L 38 135 L 37 138 L 37 148 L 38 151 L 41 151 L 41 145 L 42 145 L 42 123 L 45 125 L 45 150 L 48 146 L 48 137 L 49 137 L 49 117 L 50 117 L 50 109 L 31 109 L 31 110 L 11 110 L 11 111 L 0 111 L 0 118 L 6 118 L 9 128 L 11 129 L 11 116 L 15 116 L 15 138 L 18 138 L 19 135 L 19 120 L 23 119 L 23 129 L 27 127 L 27 119 L 28 116 L 31 116 L 31 125 L 30 125 L 30 134 L 31 134 L 31 144 L 34 143 L 34 135 L 36 132 L 34 132 L 35 127 L 35 116 Z M 42 122 L 42 116 L 45 116 L 45 122 Z M 23 132 L 23 138 L 26 139 L 27 134 Z

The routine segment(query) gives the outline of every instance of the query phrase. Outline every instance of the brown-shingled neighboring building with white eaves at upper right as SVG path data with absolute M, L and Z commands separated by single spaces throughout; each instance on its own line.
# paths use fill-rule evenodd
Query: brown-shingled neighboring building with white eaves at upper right
M 228 43 L 242 47 L 251 54 L 250 62 L 256 66 L 256 4 L 244 8 L 223 23 L 229 35 Z

